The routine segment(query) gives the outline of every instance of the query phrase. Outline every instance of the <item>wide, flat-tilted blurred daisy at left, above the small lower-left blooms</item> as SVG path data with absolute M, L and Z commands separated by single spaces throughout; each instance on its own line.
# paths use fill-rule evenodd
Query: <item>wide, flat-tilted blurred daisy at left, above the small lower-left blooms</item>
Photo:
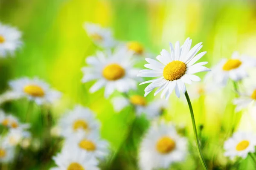
M 50 89 L 46 82 L 38 78 L 24 77 L 10 81 L 9 85 L 15 93 L 26 96 L 29 100 L 34 100 L 38 105 L 53 103 L 61 97 L 59 91 Z

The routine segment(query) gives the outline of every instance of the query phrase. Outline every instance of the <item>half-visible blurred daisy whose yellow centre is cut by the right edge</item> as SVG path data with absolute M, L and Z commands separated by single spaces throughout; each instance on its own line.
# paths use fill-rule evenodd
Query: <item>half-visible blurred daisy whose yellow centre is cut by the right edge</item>
M 254 102 L 256 106 L 256 85 L 247 87 L 244 93 L 239 93 L 239 98 L 233 100 L 233 104 L 236 105 L 236 111 L 241 111 L 243 108 L 247 108 L 250 103 Z

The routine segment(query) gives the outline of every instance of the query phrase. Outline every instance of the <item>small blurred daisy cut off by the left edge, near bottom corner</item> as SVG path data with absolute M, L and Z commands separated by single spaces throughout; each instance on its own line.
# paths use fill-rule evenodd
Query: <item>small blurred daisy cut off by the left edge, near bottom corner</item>
M 12 162 L 15 157 L 15 147 L 7 144 L 5 139 L 2 139 L 0 143 L 0 162 L 9 163 Z

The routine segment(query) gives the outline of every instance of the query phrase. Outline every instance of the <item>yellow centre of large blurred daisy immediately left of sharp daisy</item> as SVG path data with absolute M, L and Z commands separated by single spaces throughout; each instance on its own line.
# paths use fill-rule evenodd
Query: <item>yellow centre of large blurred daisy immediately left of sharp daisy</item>
M 125 76 L 125 69 L 118 64 L 110 64 L 103 69 L 102 75 L 111 81 L 121 79 Z

